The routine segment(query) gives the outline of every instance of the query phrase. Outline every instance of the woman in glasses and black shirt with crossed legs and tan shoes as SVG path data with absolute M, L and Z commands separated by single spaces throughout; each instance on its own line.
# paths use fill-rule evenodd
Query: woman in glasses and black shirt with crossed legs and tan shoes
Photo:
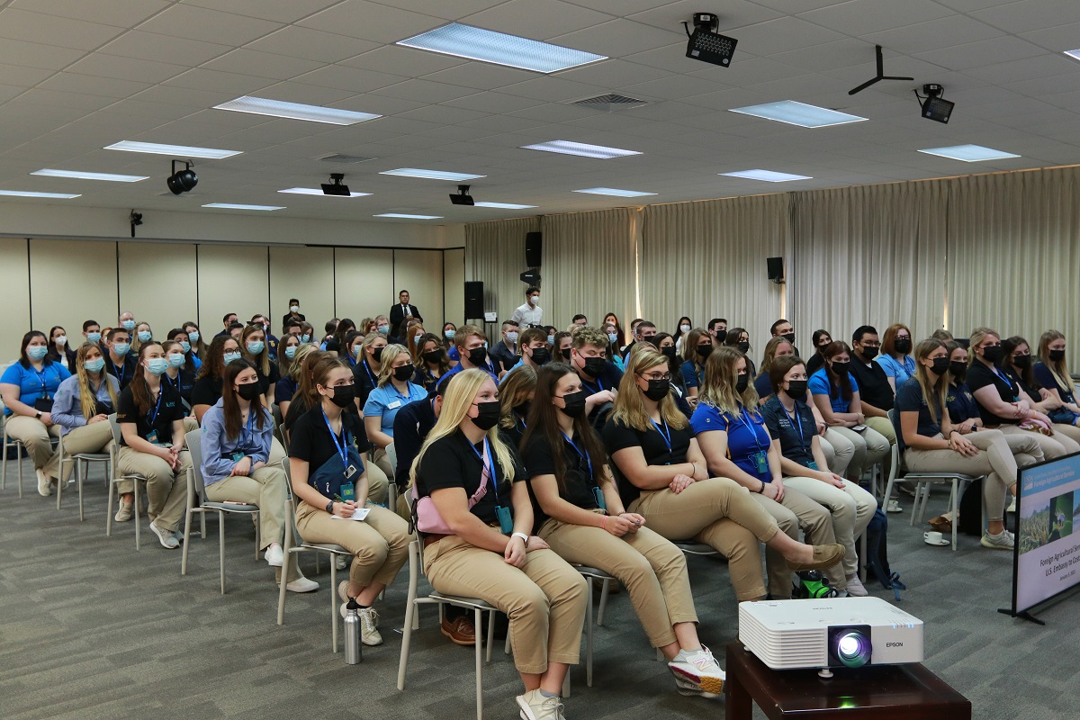
M 671 397 L 666 373 L 667 358 L 656 350 L 633 353 L 604 426 L 604 445 L 619 470 L 623 507 L 644 515 L 667 540 L 693 540 L 723 553 L 740 601 L 765 598 L 759 541 L 793 570 L 839 562 L 842 545 L 811 547 L 793 540 L 779 532 L 777 521 L 745 488 L 725 477 L 708 477 L 690 423 Z

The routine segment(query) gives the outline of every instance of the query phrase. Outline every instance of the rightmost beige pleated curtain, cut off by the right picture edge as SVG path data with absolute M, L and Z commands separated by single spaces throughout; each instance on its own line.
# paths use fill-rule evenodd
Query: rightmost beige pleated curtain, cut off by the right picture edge
M 1037 352 L 1057 329 L 1080 340 L 1080 168 L 949 181 L 948 326 L 1020 335 Z M 1077 369 L 1076 362 L 1070 366 Z

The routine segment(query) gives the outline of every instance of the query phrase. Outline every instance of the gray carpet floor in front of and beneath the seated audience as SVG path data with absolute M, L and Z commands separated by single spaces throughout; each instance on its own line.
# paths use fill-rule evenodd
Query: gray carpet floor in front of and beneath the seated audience
M 37 494 L 24 462 L 25 497 L 9 464 L 0 492 L 0 717 L 6 720 L 96 718 L 200 719 L 312 717 L 379 720 L 475 717 L 472 649 L 450 644 L 426 607 L 414 635 L 404 692 L 395 688 L 407 576 L 380 603 L 384 643 L 347 666 L 330 652 L 329 572 L 309 576 L 322 588 L 288 594 L 285 625 L 275 623 L 273 571 L 254 559 L 247 518 L 227 522 L 228 593 L 219 594 L 216 521 L 193 539 L 189 574 L 180 551 L 167 551 L 144 525 L 135 551 L 131 522 L 105 536 L 100 471 L 86 485 L 79 521 L 73 487 L 57 512 Z M 905 511 L 908 499 L 902 498 Z M 944 495 L 932 498 L 940 512 Z M 890 515 L 890 559 L 908 589 L 902 607 L 926 623 L 926 665 L 972 701 L 981 720 L 1075 719 L 1080 668 L 1077 600 L 1041 613 L 1045 627 L 998 614 L 1011 594 L 1011 554 L 961 538 L 959 551 L 922 542 L 908 513 Z M 144 518 L 144 524 L 146 522 Z M 691 558 L 702 639 L 723 656 L 737 635 L 737 606 L 726 566 Z M 868 583 L 873 595 L 892 598 Z M 583 654 L 582 654 L 583 660 Z M 723 660 L 721 660 L 723 664 Z M 654 660 L 625 594 L 613 596 L 595 628 L 595 678 L 571 670 L 568 718 L 715 718 L 723 701 L 683 697 Z M 487 718 L 516 718 L 519 680 L 501 653 L 484 670 Z M 758 717 L 760 714 L 758 714 Z

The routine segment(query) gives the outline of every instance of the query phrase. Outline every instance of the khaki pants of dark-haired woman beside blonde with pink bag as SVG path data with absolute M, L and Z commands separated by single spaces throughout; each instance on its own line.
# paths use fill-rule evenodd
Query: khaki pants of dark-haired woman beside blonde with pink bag
M 640 528 L 616 538 L 603 528 L 552 518 L 540 527 L 539 535 L 567 562 L 618 578 L 653 648 L 675 642 L 673 625 L 698 622 L 686 557 L 659 533 Z

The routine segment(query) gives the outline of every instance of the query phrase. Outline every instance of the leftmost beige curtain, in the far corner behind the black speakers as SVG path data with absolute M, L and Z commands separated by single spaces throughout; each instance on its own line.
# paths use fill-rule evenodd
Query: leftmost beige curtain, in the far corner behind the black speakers
M 538 217 L 465 226 L 465 280 L 483 281 L 484 309 L 498 312 L 500 323 L 525 302 L 525 285 L 517 277 L 527 270 L 525 233 L 539 229 Z M 446 291 L 456 290 L 447 287 Z

